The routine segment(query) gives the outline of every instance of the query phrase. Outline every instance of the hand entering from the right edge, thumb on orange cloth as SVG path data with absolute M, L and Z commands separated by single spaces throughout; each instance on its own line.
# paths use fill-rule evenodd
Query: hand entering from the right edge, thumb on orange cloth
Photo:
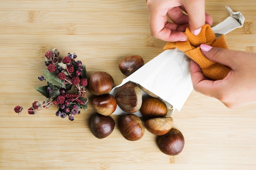
M 228 108 L 237 108 L 256 102 L 256 53 L 200 46 L 209 60 L 231 68 L 222 80 L 211 80 L 191 60 L 191 79 L 195 91 L 215 97 Z

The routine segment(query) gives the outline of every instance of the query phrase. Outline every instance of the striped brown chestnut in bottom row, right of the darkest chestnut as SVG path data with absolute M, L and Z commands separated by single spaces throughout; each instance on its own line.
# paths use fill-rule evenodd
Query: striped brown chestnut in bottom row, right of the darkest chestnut
M 137 141 L 143 137 L 145 126 L 137 115 L 126 114 L 119 122 L 119 130 L 125 139 Z

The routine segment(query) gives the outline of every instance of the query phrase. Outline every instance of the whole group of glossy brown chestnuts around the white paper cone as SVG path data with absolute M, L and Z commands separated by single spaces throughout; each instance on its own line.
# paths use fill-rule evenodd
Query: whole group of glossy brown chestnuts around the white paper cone
M 125 57 L 119 62 L 120 71 L 129 76 L 144 65 L 144 60 L 139 55 Z M 112 133 L 115 121 L 110 116 L 117 105 L 126 114 L 119 121 L 119 130 L 123 137 L 129 141 L 136 141 L 143 137 L 145 128 L 154 135 L 159 136 L 157 146 L 167 155 L 178 155 L 184 147 L 182 133 L 172 128 L 173 118 L 166 116 L 167 106 L 159 97 L 139 84 L 127 82 L 120 86 L 115 96 L 109 92 L 114 87 L 114 79 L 106 72 L 92 73 L 88 78 L 88 90 L 94 95 L 92 108 L 97 112 L 90 120 L 92 134 L 105 138 Z M 142 96 L 142 91 L 148 97 Z M 133 114 L 140 111 L 146 119 Z

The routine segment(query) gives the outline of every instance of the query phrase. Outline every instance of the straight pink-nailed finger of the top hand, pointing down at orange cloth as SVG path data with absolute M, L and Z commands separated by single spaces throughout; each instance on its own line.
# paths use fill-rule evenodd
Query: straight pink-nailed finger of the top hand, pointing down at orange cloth
M 189 29 L 193 33 L 205 24 L 204 0 L 187 0 L 183 6 L 189 16 Z

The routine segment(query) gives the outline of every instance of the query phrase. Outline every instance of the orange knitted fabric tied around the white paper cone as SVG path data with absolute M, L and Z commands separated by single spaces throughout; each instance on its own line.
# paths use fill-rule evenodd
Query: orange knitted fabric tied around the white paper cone
M 208 24 L 205 24 L 202 27 L 199 35 L 191 33 L 189 27 L 186 28 L 185 33 L 188 36 L 187 41 L 168 42 L 164 46 L 164 50 L 177 48 L 180 51 L 183 51 L 200 66 L 203 75 L 206 77 L 215 80 L 226 77 L 230 69 L 222 64 L 207 59 L 200 50 L 200 44 L 228 49 L 224 35 L 216 40 L 215 34 Z

